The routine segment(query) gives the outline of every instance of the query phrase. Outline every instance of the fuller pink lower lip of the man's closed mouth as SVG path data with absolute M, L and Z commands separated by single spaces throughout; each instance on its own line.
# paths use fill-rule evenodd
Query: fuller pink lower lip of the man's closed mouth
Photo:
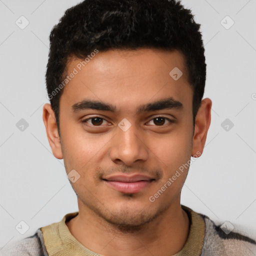
M 152 180 L 139 180 L 136 182 L 120 182 L 114 180 L 106 180 L 106 182 L 116 190 L 122 193 L 136 193 L 148 186 Z

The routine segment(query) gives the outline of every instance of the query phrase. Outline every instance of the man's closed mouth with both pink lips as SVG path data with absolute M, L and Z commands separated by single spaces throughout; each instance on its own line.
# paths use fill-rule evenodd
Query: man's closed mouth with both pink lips
M 155 179 L 149 176 L 133 174 L 128 175 L 111 175 L 103 180 L 115 190 L 122 193 L 136 193 L 150 185 Z

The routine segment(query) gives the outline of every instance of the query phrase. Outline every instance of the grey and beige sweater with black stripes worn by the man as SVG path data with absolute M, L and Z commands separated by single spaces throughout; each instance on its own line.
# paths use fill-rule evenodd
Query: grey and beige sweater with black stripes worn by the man
M 182 249 L 180 252 L 176 253 L 175 256 L 179 255 L 189 255 L 189 256 L 219 256 L 219 255 L 230 255 L 230 256 L 255 256 L 256 255 L 256 241 L 255 237 L 251 238 L 247 235 L 243 235 L 240 232 L 234 232 L 234 231 L 228 231 L 228 227 L 223 227 L 223 225 L 217 225 L 215 222 L 213 222 L 209 217 L 194 212 L 190 208 L 186 206 L 182 206 L 183 209 L 186 210 L 189 216 L 190 221 L 190 229 L 189 229 L 189 235 L 188 240 L 189 243 L 186 242 L 185 249 Z M 78 213 L 68 213 L 66 214 L 63 219 L 54 224 L 62 224 L 65 226 L 65 219 L 68 216 L 69 219 L 71 217 L 74 217 Z M 197 219 L 201 218 L 203 223 L 203 235 L 202 235 L 202 243 L 198 246 L 198 239 L 197 237 L 191 237 L 191 236 L 199 236 L 200 232 L 198 231 L 198 225 L 200 225 L 197 222 Z M 202 222 L 203 222 L 202 221 Z M 56 225 L 55 225 L 56 226 Z M 47 226 L 46 226 L 47 227 Z M 53 225 L 49 225 L 49 230 L 54 229 Z M 66 232 L 68 233 L 68 236 L 71 236 L 71 234 L 68 232 L 67 227 Z M 1 256 L 51 256 L 51 255 L 98 255 L 95 252 L 90 251 L 89 249 L 85 248 L 86 251 L 82 251 L 82 253 L 73 252 L 70 250 L 70 246 L 67 245 L 65 247 L 65 244 L 63 244 L 63 251 L 58 251 L 58 253 L 55 254 L 54 252 L 54 246 L 57 246 L 57 240 L 54 239 L 46 239 L 46 232 L 43 233 L 44 229 L 38 228 L 36 232 L 29 237 L 23 238 L 22 240 L 12 242 L 12 244 L 0 248 L 0 255 Z M 58 229 L 59 230 L 59 229 Z M 63 229 L 62 229 L 63 230 Z M 55 234 L 53 234 L 55 235 Z M 56 235 L 55 235 L 56 236 Z M 75 239 L 72 237 L 72 239 Z M 52 240 L 52 243 L 50 244 L 49 241 Z M 46 246 L 45 246 L 46 241 Z M 63 239 L 61 239 L 61 242 Z M 47 245 L 48 243 L 48 245 Z M 65 242 L 66 243 L 66 242 Z M 81 244 L 77 241 L 77 247 L 79 247 Z M 51 247 L 50 247 L 51 246 Z M 53 247 L 53 248 L 52 248 Z M 196 249 L 194 249 L 196 248 Z M 52 250 L 53 249 L 53 250 Z M 48 252 L 47 252 L 48 251 Z M 157 256 L 157 255 L 155 255 Z

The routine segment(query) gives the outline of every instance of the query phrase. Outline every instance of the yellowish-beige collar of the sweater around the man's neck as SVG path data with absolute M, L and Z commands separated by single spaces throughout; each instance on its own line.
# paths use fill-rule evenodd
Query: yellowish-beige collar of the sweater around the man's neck
M 204 219 L 190 208 L 183 205 L 181 205 L 181 207 L 188 214 L 190 229 L 183 248 L 173 256 L 199 256 L 201 253 L 205 232 Z M 84 247 L 70 233 L 65 221 L 75 217 L 77 214 L 78 211 L 67 213 L 61 219 L 61 221 L 40 228 L 43 234 L 44 244 L 48 256 L 103 256 Z

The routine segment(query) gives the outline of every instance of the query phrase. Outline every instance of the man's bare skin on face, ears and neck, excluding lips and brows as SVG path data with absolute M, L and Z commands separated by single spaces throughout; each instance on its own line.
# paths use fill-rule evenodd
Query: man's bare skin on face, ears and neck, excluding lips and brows
M 68 72 L 79 63 L 71 58 Z M 183 75 L 174 80 L 169 72 Z M 179 51 L 160 49 L 98 52 L 64 87 L 60 97 L 60 137 L 50 104 L 43 106 L 43 122 L 54 156 L 63 158 L 66 172 L 80 178 L 71 183 L 79 214 L 66 222 L 71 234 L 85 247 L 103 255 L 172 255 L 184 245 L 188 216 L 180 207 L 180 192 L 189 168 L 153 202 L 154 195 L 175 171 L 202 153 L 210 125 L 211 100 L 204 98 L 192 124 L 192 87 L 187 82 Z M 182 109 L 136 114 L 140 104 L 173 97 Z M 83 99 L 116 106 L 116 112 L 71 106 Z M 104 118 L 101 126 L 89 117 Z M 162 125 L 153 118 L 163 116 Z M 131 126 L 123 131 L 118 123 Z M 98 120 L 98 119 L 97 119 Z M 94 125 L 94 126 L 93 126 Z M 102 177 L 112 173 L 142 173 L 155 178 L 139 192 L 125 194 Z M 87 235 L 89 233 L 89 235 Z

